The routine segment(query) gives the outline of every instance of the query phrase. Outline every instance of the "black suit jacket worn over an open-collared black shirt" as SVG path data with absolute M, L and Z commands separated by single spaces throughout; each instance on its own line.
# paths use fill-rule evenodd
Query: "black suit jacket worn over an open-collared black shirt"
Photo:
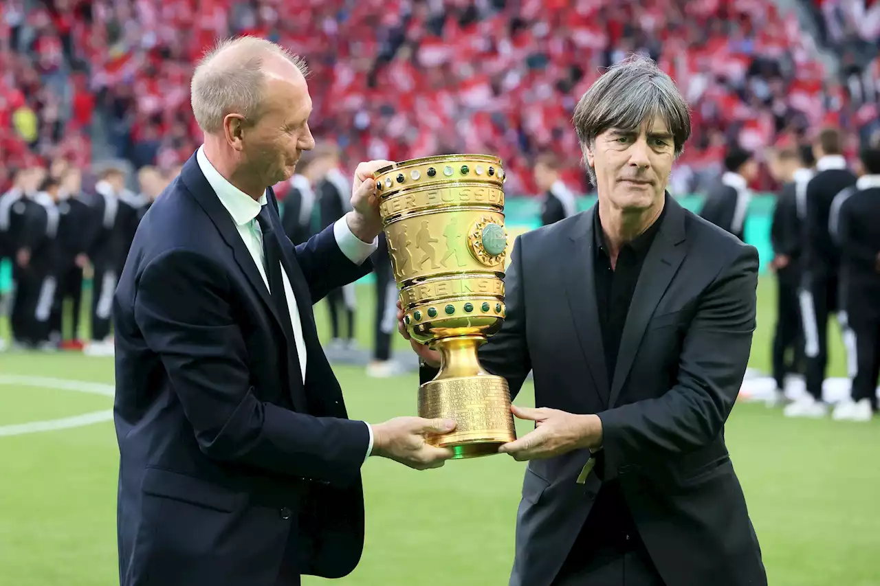
M 480 362 L 516 395 L 532 370 L 535 405 L 598 414 L 605 466 L 575 450 L 526 467 L 510 586 L 546 586 L 618 479 L 670 586 L 766 584 L 723 427 L 755 327 L 758 253 L 666 198 L 608 379 L 593 282 L 593 214 L 517 238 L 505 277 L 507 318 Z M 422 380 L 432 373 L 422 370 Z

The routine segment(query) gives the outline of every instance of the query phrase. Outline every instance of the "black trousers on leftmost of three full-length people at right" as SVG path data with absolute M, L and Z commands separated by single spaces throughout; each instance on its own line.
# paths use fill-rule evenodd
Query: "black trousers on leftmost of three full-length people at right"
M 776 388 L 781 390 L 787 374 L 803 372 L 803 322 L 796 279 L 790 275 L 778 275 L 776 283 L 773 376 Z

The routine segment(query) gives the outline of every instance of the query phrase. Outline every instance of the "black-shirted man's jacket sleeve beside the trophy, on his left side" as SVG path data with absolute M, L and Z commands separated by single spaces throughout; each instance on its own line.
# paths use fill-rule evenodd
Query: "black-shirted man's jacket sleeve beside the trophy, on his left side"
M 513 258 L 504 276 L 504 304 L 507 311 L 501 330 L 480 347 L 480 364 L 496 377 L 504 377 L 510 387 L 510 399 L 516 399 L 525 377 L 532 370 L 532 358 L 525 337 L 522 244 L 517 237 Z M 419 383 L 436 377 L 438 369 L 422 365 Z

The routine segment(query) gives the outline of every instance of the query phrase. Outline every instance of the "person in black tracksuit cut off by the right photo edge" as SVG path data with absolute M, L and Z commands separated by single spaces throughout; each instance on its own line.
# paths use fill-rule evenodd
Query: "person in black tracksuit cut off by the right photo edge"
M 861 159 L 865 174 L 851 193 L 839 196 L 830 226 L 840 245 L 842 301 L 856 357 L 851 400 L 836 407 L 834 416 L 849 421 L 869 421 L 877 411 L 880 377 L 880 146 L 863 148 Z

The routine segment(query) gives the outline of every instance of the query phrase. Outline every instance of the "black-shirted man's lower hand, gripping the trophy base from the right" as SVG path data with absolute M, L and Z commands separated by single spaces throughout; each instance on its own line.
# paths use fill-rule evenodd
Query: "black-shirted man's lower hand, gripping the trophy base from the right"
M 510 410 L 519 419 L 535 421 L 536 426 L 534 431 L 498 448 L 499 452 L 510 454 L 517 461 L 553 458 L 581 448 L 598 450 L 602 445 L 602 421 L 598 415 L 516 405 Z

